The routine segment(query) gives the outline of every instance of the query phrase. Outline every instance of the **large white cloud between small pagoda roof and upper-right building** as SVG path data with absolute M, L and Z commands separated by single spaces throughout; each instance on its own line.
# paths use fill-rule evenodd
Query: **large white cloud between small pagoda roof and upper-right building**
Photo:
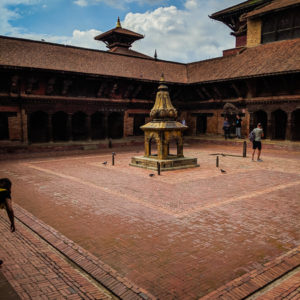
M 160 7 L 153 11 L 128 13 L 123 27 L 145 35 L 134 49 L 159 59 L 191 62 L 222 55 L 222 50 L 234 47 L 229 29 L 211 20 L 208 15 L 240 0 L 186 0 L 184 8 Z

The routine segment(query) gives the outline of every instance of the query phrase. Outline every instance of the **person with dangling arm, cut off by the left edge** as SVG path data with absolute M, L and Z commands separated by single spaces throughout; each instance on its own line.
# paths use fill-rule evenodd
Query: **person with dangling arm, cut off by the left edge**
M 11 181 L 8 178 L 0 179 L 0 208 L 6 210 L 10 220 L 10 231 L 14 232 L 16 228 L 11 200 Z M 0 259 L 0 266 L 2 264 L 3 261 Z

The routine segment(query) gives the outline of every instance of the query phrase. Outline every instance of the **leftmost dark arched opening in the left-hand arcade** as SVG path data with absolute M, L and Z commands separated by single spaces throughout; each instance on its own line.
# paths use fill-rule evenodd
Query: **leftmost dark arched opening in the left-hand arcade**
M 48 136 L 48 114 L 37 111 L 30 115 L 29 119 L 29 140 L 32 143 L 46 143 Z

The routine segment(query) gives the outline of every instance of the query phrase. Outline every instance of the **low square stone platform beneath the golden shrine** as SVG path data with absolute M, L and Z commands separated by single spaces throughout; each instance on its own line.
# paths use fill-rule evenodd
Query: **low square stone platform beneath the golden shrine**
M 176 157 L 172 159 L 158 159 L 155 157 L 135 156 L 131 158 L 130 166 L 157 171 L 157 163 L 161 171 L 172 171 L 200 167 L 197 158 Z

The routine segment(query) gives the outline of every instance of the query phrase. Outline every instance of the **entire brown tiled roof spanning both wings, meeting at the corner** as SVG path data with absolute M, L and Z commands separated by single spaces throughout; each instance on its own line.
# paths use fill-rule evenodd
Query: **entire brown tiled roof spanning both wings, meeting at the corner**
M 245 48 L 239 54 L 190 64 L 0 37 L 0 66 L 142 80 L 196 83 L 300 72 L 300 39 Z

